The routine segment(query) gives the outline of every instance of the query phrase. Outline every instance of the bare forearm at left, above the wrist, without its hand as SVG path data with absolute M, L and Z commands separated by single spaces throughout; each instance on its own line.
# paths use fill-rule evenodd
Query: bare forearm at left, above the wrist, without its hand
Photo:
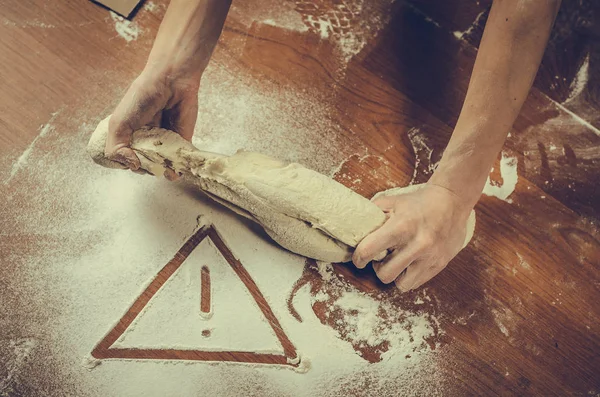
M 171 0 L 146 70 L 199 78 L 219 40 L 230 5 L 231 0 Z

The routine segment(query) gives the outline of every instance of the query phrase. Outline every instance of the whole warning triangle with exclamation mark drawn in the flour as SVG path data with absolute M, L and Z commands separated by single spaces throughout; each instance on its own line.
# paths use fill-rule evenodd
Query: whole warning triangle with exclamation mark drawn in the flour
M 92 356 L 298 363 L 263 294 L 212 225 L 158 272 Z

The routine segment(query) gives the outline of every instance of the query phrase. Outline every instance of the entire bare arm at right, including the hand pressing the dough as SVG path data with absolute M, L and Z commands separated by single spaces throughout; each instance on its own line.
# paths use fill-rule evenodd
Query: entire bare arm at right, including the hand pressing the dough
M 407 291 L 430 280 L 461 250 L 466 222 L 531 88 L 559 0 L 495 0 L 450 143 L 425 188 L 376 201 L 388 221 L 357 247 L 381 281 Z

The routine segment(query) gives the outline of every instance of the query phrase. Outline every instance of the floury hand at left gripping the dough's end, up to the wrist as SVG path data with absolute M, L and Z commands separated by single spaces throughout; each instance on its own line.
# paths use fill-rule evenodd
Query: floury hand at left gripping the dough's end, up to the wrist
M 199 86 L 199 76 L 142 72 L 110 118 L 106 157 L 132 171 L 141 171 L 140 160 L 129 146 L 133 132 L 144 126 L 172 130 L 191 141 L 198 116 Z M 177 178 L 174 172 L 166 172 L 165 177 Z

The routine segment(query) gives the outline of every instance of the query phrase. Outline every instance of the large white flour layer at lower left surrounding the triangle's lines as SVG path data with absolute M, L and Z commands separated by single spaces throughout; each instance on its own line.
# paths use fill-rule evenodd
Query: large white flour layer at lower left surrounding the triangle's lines
M 356 390 L 390 395 L 403 391 L 431 394 L 437 389 L 433 351 L 423 350 L 419 359 L 411 360 L 396 354 L 411 337 L 420 344 L 430 332 L 418 312 L 402 311 L 405 319 L 394 323 L 394 314 L 389 313 L 392 306 L 345 290 L 333 308 L 346 315 L 334 329 L 317 318 L 311 307 L 313 297 L 304 288 L 295 299 L 304 320 L 298 322 L 288 311 L 287 295 L 303 274 L 303 258 L 280 249 L 250 222 L 179 183 L 98 167 L 82 154 L 88 135 L 69 134 L 78 126 L 65 125 L 68 122 L 66 117 L 53 122 L 65 131 L 46 135 L 32 147 L 19 178 L 0 185 L 7 201 L 0 207 L 0 248 L 11 247 L 13 270 L 3 281 L 19 288 L 28 308 L 27 315 L 21 313 L 22 305 L 3 310 L 19 316 L 19 329 L 39 341 L 28 350 L 31 353 L 27 353 L 27 366 L 21 366 L 21 376 L 43 371 L 49 360 L 57 364 L 51 383 L 40 385 L 40 390 L 81 396 L 169 395 L 174 391 L 198 395 L 199 390 L 219 396 L 339 396 L 356 394 Z M 56 153 L 56 147 L 64 150 Z M 13 210 L 17 205 L 22 211 Z M 215 226 L 251 275 L 301 355 L 301 364 L 310 362 L 308 372 L 298 373 L 291 366 L 227 362 L 113 359 L 98 365 L 88 360 L 97 343 L 197 230 L 199 217 L 201 223 Z M 20 241 L 24 245 L 15 246 Z M 233 291 L 236 275 L 219 264 L 209 244 L 196 249 L 118 343 L 130 348 L 277 351 L 280 347 L 255 303 L 242 302 L 244 292 Z M 213 316 L 208 320 L 199 315 L 198 275 L 203 265 L 212 266 L 215 283 Z M 19 275 L 18 283 L 11 283 L 12 274 Z M 5 293 L 0 291 L 3 299 Z M 378 322 L 371 309 L 390 314 L 389 322 Z M 354 310 L 361 314 L 353 314 Z M 35 313 L 48 320 L 40 323 Z M 241 325 L 232 325 L 238 320 Z M 385 360 L 371 364 L 340 337 L 339 329 L 347 330 L 358 343 L 389 340 L 393 348 Z M 408 347 L 413 350 L 415 345 L 410 342 Z

